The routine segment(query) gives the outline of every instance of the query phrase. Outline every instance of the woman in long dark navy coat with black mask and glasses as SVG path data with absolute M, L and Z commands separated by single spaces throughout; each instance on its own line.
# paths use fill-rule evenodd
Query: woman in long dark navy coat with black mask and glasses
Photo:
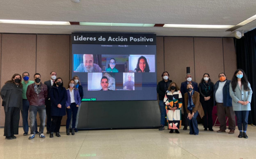
M 49 97 L 51 99 L 51 115 L 52 115 L 52 124 L 50 138 L 53 138 L 53 132 L 56 132 L 57 137 L 61 137 L 60 128 L 61 120 L 64 115 L 66 115 L 66 98 L 67 92 L 65 87 L 63 87 L 63 82 L 61 78 L 57 78 L 54 81 L 53 86 L 49 90 Z

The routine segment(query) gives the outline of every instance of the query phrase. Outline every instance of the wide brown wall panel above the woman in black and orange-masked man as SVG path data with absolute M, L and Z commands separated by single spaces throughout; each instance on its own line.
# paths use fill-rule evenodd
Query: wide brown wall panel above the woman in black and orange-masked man
M 195 37 L 195 80 L 197 83 L 208 73 L 216 83 L 218 75 L 224 72 L 222 38 Z

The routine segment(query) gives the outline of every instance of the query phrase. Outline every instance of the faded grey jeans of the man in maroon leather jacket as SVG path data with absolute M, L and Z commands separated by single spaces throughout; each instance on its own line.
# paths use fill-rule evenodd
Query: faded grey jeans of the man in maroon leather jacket
M 35 121 L 37 119 L 37 112 L 38 112 L 39 118 L 40 118 L 39 134 L 44 133 L 45 118 L 46 118 L 45 105 L 39 105 L 39 106 L 30 105 L 29 119 L 30 119 L 31 134 L 36 134 Z

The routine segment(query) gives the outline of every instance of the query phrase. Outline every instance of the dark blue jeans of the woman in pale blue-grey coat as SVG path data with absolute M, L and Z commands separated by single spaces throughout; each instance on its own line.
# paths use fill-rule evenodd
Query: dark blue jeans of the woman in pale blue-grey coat
M 237 127 L 240 131 L 247 131 L 249 110 L 235 111 L 237 118 Z

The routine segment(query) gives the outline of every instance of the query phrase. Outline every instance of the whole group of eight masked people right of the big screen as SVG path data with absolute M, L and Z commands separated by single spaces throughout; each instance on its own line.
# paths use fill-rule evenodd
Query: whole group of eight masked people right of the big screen
M 252 89 L 243 70 L 235 71 L 232 80 L 228 80 L 225 73 L 219 74 L 219 80 L 214 84 L 210 75 L 205 73 L 199 85 L 192 81 L 192 75 L 186 75 L 186 81 L 181 88 L 169 79 L 169 73 L 163 72 L 162 81 L 157 85 L 161 112 L 160 131 L 165 129 L 165 117 L 170 133 L 181 128 L 181 108 L 184 111 L 184 128 L 190 127 L 190 134 L 198 135 L 197 116 L 203 119 L 204 131 L 213 131 L 212 110 L 217 106 L 217 117 L 220 129 L 226 132 L 226 116 L 228 117 L 229 134 L 233 134 L 237 126 L 239 138 L 248 138 L 247 124 L 251 110 Z

